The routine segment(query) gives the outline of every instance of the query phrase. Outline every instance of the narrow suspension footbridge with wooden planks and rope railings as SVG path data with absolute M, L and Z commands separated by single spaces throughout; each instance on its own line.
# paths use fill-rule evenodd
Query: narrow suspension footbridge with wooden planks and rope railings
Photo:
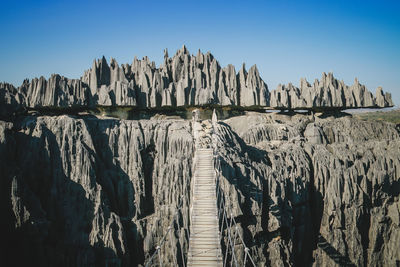
M 190 201 L 190 227 L 179 223 L 182 203 L 175 208 L 170 227 L 160 239 L 145 266 L 256 266 L 231 210 L 230 198 L 221 188 L 221 165 L 213 137 L 218 123 L 194 120 L 194 177 L 191 190 L 182 195 Z M 184 233 L 184 235 L 182 235 Z M 188 240 L 188 248 L 180 245 L 179 253 L 172 236 Z M 170 237 L 170 238 L 168 238 Z M 175 240 L 176 240 L 175 239 Z M 221 246 L 223 245 L 223 247 Z M 163 262 L 172 253 L 172 262 Z M 166 254 L 166 255 L 165 255 Z M 182 260 L 178 261 L 178 257 Z M 167 257 L 168 258 L 168 257 Z

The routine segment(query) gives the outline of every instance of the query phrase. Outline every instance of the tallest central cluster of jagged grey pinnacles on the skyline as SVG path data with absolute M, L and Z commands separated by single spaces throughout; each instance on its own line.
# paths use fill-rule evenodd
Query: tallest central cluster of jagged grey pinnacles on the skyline
M 122 68 L 112 59 L 110 66 L 109 70 L 104 58 L 95 61 L 92 69 L 85 72 L 82 78 L 86 84 L 90 84 L 92 95 L 99 94 L 99 88 L 102 86 L 109 89 L 100 93 L 103 97 L 99 99 L 104 99 L 104 95 L 107 94 L 116 95 L 114 84 L 118 82 L 130 88 L 132 93 L 128 97 L 129 104 L 139 107 L 205 104 L 260 106 L 268 102 L 267 86 L 255 66 L 252 67 L 249 78 L 243 77 L 242 84 L 239 84 L 236 80 L 241 74 L 236 75 L 232 65 L 221 69 L 211 53 L 202 54 L 199 51 L 193 56 L 185 46 L 172 58 L 169 58 L 168 52 L 165 51 L 164 63 L 159 68 L 147 57 L 143 60 L 135 58 L 132 65 L 126 64 Z M 109 72 L 111 80 L 107 79 Z M 101 73 L 106 74 L 101 76 Z M 241 102 L 240 94 L 243 96 Z M 112 101 L 111 98 L 111 102 L 100 101 L 97 104 L 123 103 Z

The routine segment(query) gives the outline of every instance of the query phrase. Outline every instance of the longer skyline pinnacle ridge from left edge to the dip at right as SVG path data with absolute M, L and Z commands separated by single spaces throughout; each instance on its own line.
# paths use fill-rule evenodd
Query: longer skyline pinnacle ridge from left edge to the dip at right
M 189 54 L 183 46 L 172 57 L 164 51 L 164 62 L 157 68 L 147 57 L 135 57 L 132 64 L 110 63 L 103 57 L 93 62 L 81 79 L 52 75 L 25 80 L 17 89 L 1 84 L 7 95 L 4 103 L 15 102 L 24 107 L 68 106 L 164 106 L 236 105 L 266 106 L 267 85 L 257 67 L 247 73 L 244 65 L 222 68 L 211 53 Z M 17 97 L 18 94 L 18 97 Z

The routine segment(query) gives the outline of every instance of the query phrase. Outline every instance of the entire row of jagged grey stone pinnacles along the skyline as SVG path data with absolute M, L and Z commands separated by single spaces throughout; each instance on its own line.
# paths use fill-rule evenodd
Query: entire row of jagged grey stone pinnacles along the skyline
M 248 71 L 243 64 L 238 72 L 233 65 L 221 67 L 207 52 L 191 55 L 183 46 L 173 57 L 164 51 L 164 61 L 156 67 L 147 57 L 132 64 L 110 63 L 102 57 L 93 62 L 80 79 L 53 74 L 25 80 L 15 88 L 0 83 L 2 110 L 9 113 L 21 107 L 65 108 L 130 106 L 162 108 L 221 105 L 240 107 L 360 108 L 393 106 L 391 95 L 378 88 L 373 96 L 356 79 L 352 86 L 336 80 L 332 73 L 310 85 L 279 85 L 271 93 L 257 66 Z M 3 111 L 2 111 L 3 112 Z

